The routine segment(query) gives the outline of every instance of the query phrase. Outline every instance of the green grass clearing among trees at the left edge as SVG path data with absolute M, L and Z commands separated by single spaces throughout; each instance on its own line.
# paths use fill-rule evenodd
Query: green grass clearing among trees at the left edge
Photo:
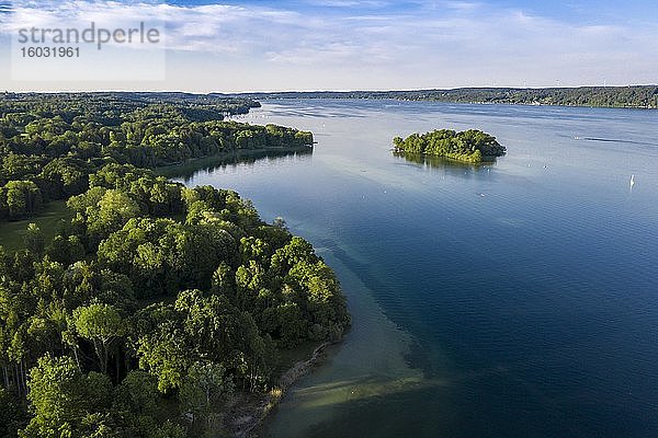
M 57 232 L 61 219 L 72 218 L 71 211 L 66 208 L 65 200 L 49 203 L 37 216 L 12 222 L 0 221 L 0 245 L 8 252 L 23 249 L 25 229 L 31 222 L 36 223 L 43 231 L 46 242 L 49 242 Z

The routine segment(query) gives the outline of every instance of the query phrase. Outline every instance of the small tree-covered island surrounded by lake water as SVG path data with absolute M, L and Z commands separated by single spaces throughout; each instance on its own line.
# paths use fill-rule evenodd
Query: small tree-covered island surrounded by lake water
M 427 134 L 412 134 L 402 139 L 393 139 L 394 152 L 444 157 L 452 160 L 479 164 L 483 161 L 502 157 L 506 148 L 496 137 L 477 129 L 454 131 L 433 130 Z

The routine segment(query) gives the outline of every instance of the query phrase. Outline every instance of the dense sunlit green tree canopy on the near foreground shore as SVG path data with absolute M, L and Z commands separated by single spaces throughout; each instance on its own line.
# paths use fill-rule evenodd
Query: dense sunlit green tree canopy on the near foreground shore
M 46 126 L 57 136 L 66 120 Z M 73 218 L 53 239 L 30 224 L 23 251 L 0 246 L 8 436 L 203 436 L 234 392 L 275 384 L 282 349 L 348 327 L 313 245 L 237 193 L 112 161 L 78 194 L 57 175 Z

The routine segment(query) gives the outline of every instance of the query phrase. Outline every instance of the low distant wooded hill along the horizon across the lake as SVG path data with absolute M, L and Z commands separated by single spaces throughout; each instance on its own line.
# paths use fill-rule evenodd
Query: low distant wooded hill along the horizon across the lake
M 580 87 L 549 89 L 465 88 L 415 91 L 321 91 L 218 94 L 266 99 L 395 99 L 446 103 L 658 108 L 658 85 Z

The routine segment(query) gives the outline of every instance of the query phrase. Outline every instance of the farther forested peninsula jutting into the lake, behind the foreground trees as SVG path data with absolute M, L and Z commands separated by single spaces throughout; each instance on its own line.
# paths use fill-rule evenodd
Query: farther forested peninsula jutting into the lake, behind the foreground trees
M 0 96 L 0 221 L 84 192 L 107 163 L 156 168 L 256 150 L 303 150 L 313 134 L 224 122 L 260 104 L 183 93 Z

